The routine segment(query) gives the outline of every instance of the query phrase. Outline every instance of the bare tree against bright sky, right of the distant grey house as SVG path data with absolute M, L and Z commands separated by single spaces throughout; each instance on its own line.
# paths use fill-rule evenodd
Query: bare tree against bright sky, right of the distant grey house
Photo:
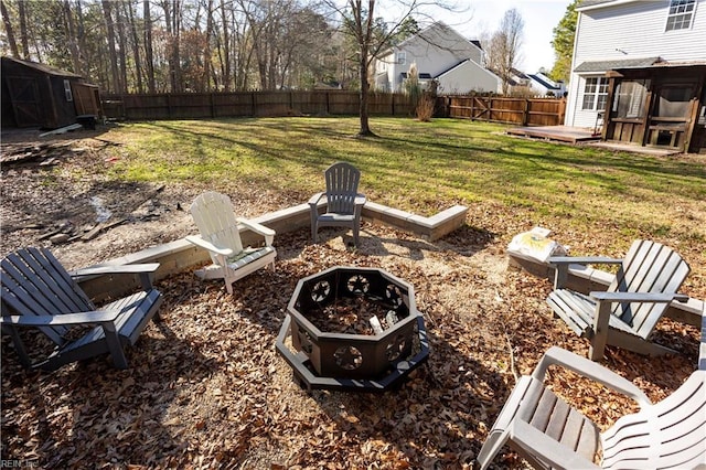
M 503 81 L 503 95 L 510 89 L 513 68 L 520 61 L 524 20 L 516 9 L 505 12 L 500 29 L 490 40 L 489 65 Z

